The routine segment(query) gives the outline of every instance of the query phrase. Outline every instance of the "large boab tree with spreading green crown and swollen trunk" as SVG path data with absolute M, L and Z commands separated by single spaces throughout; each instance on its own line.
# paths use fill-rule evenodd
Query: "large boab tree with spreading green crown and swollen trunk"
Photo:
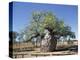
M 34 12 L 32 14 L 31 25 L 28 27 L 29 32 L 25 33 L 30 34 L 28 40 L 31 40 L 33 37 L 37 38 L 40 36 L 42 41 L 45 37 L 44 30 L 46 29 L 49 31 L 49 42 L 45 41 L 46 43 L 49 43 L 49 45 L 45 44 L 45 46 L 47 45 L 49 48 L 45 49 L 45 46 L 42 46 L 43 48 L 41 47 L 41 51 L 54 51 L 56 49 L 57 40 L 61 37 L 67 38 L 69 36 L 70 38 L 75 38 L 75 34 L 71 31 L 71 27 L 66 26 L 64 21 L 59 20 L 51 12 Z M 25 29 L 25 32 L 26 31 L 27 30 Z

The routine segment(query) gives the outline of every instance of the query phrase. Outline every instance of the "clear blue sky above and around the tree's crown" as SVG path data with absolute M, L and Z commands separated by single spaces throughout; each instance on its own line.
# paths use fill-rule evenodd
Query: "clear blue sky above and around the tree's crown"
M 13 2 L 13 31 L 20 32 L 31 21 L 34 11 L 51 11 L 66 25 L 71 26 L 77 36 L 78 8 L 75 5 L 34 4 L 26 2 Z

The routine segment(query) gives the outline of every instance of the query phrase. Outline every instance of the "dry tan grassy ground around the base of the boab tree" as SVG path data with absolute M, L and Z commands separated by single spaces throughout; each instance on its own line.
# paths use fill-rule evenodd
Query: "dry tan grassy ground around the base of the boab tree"
M 77 44 L 74 44 L 77 45 Z M 73 44 L 57 44 L 58 49 L 66 49 L 73 46 Z M 14 44 L 13 45 L 13 58 L 25 58 L 25 57 L 38 57 L 38 56 L 58 56 L 58 55 L 73 55 L 77 54 L 78 52 L 70 51 L 70 50 L 58 50 L 54 52 L 40 52 L 40 47 L 34 48 L 32 43 L 21 43 L 21 44 Z M 31 49 L 30 49 L 31 48 Z M 30 49 L 29 51 L 27 49 Z M 16 51 L 20 50 L 20 51 Z

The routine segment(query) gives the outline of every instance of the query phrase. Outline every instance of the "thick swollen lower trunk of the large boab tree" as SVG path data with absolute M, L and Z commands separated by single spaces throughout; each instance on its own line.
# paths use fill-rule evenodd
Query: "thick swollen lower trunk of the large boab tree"
M 43 39 L 41 45 L 41 52 L 53 52 L 56 49 L 57 39 L 50 35 L 49 39 Z

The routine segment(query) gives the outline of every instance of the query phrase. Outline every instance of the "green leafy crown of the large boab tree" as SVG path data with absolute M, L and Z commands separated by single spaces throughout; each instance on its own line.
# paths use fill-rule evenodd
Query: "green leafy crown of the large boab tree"
M 26 40 L 29 40 L 32 36 L 37 34 L 38 36 L 43 35 L 46 27 L 58 38 L 67 36 L 75 38 L 75 34 L 71 31 L 71 27 L 66 26 L 63 20 L 59 20 L 51 12 L 33 12 L 31 23 L 24 31 Z

